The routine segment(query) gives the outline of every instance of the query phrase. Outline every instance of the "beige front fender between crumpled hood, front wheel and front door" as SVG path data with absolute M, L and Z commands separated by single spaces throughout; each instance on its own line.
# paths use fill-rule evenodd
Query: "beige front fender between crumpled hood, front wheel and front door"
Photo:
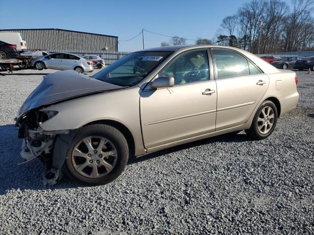
M 58 111 L 58 115 L 40 124 L 44 131 L 75 130 L 98 120 L 113 120 L 131 132 L 135 154 L 144 151 L 137 86 L 107 93 L 93 94 L 51 105 L 43 110 Z

